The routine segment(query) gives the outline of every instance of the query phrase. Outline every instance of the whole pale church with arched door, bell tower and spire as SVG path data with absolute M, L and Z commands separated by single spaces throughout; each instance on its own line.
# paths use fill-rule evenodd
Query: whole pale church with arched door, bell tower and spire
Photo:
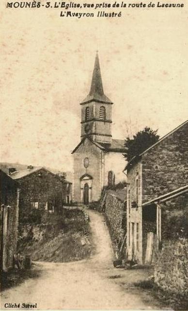
M 104 94 L 98 54 L 91 88 L 81 105 L 81 141 L 73 150 L 73 202 L 98 201 L 104 186 L 125 180 L 123 139 L 111 135 L 112 102 Z

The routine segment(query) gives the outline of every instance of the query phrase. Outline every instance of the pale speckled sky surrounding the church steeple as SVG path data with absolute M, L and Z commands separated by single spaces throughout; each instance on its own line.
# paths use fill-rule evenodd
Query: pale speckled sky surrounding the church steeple
M 4 2 L 4 3 L 3 3 Z M 0 2 L 0 161 L 72 170 L 99 53 L 112 136 L 163 136 L 188 119 L 188 8 L 62 18 Z M 147 2 L 147 1 L 146 1 Z M 176 1 L 175 1 L 176 2 Z

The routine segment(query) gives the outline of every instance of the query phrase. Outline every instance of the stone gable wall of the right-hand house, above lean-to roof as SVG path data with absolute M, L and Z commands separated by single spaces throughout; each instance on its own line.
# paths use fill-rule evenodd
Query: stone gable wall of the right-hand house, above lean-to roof
M 141 157 L 142 201 L 188 184 L 188 122 Z

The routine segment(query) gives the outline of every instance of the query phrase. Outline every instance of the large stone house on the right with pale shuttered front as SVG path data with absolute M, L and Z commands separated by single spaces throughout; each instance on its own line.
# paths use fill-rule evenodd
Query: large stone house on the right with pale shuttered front
M 173 191 L 188 185 L 188 121 L 132 158 L 125 171 L 128 184 L 128 257 L 142 262 L 145 256 L 143 250 L 146 247 L 146 233 L 153 231 L 161 236 L 161 209 L 157 205 L 151 209 L 150 203 L 153 204 L 158 197 L 171 195 Z

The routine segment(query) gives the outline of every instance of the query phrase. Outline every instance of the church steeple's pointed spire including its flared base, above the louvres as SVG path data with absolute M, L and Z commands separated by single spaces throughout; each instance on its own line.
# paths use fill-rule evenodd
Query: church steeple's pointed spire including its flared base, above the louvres
M 113 104 L 110 101 L 110 99 L 104 94 L 98 53 L 96 53 L 96 57 L 95 57 L 94 71 L 93 71 L 93 76 L 92 76 L 90 92 L 81 104 L 86 104 L 92 101 Z

